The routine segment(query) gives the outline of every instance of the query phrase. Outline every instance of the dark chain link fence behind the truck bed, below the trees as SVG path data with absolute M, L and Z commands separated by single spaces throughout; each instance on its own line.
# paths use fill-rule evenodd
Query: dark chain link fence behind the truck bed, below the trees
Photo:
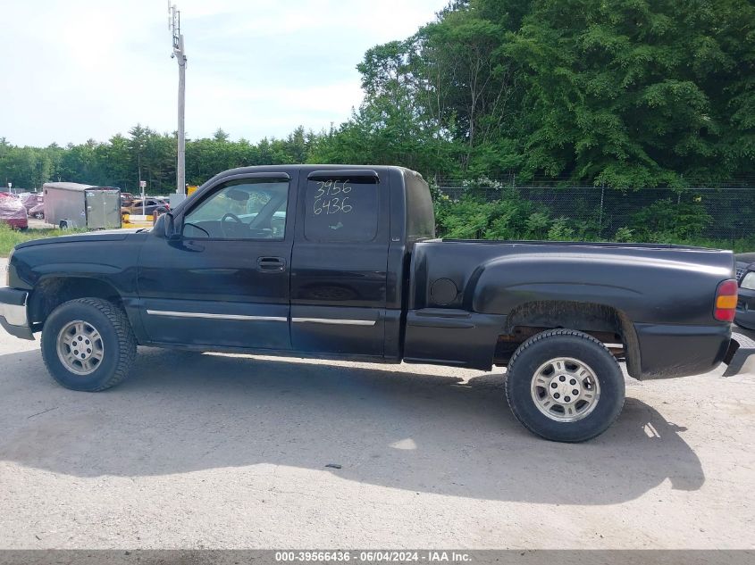
M 519 187 L 511 179 L 491 184 L 495 187 L 475 186 L 474 195 L 494 202 L 513 194 L 553 219 L 566 218 L 589 226 L 586 231 L 592 237 L 610 239 L 620 228 L 663 232 L 669 224 L 675 231 L 684 232 L 685 223 L 693 237 L 734 241 L 755 236 L 755 186 L 622 191 L 606 187 Z M 473 190 L 449 181 L 440 181 L 438 189 L 451 200 Z

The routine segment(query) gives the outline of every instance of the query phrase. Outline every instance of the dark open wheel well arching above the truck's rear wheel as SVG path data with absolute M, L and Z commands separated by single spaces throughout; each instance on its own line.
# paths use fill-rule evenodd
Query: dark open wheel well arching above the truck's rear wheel
M 516 348 L 541 331 L 576 329 L 607 344 L 617 359 L 625 360 L 630 375 L 640 372 L 640 348 L 634 326 L 625 312 L 596 303 L 538 301 L 520 304 L 507 318 L 499 335 L 494 362 L 506 364 Z

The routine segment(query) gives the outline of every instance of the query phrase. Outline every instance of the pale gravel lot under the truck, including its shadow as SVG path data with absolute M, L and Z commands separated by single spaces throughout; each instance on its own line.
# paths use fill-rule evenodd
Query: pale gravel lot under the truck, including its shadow
M 499 373 L 140 353 L 74 393 L 0 332 L 0 547 L 755 546 L 752 374 L 630 380 L 560 445 Z

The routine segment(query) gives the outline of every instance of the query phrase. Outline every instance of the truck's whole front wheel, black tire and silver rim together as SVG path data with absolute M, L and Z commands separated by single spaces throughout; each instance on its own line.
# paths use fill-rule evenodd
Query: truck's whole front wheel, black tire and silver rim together
M 128 377 L 137 341 L 120 307 L 101 298 L 79 298 L 49 315 L 41 347 L 58 384 L 97 392 Z

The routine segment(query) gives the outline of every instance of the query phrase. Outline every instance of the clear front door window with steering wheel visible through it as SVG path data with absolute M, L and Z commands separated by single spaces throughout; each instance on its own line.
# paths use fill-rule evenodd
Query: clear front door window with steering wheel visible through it
M 183 235 L 205 239 L 283 239 L 288 201 L 288 181 L 232 181 L 186 215 Z

